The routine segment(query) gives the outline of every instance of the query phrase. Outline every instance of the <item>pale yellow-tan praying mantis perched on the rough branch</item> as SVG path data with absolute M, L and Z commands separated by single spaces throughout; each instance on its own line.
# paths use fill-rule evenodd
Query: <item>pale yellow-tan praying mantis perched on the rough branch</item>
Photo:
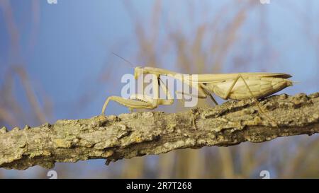
M 121 98 L 119 96 L 110 96 L 106 99 L 106 102 L 102 108 L 102 115 L 106 110 L 106 106 L 110 100 L 116 101 L 121 105 L 128 107 L 130 110 L 133 109 L 155 109 L 159 105 L 172 105 L 174 100 L 172 96 L 169 95 L 169 90 L 164 86 L 163 81 L 160 76 L 171 76 L 173 78 L 182 77 L 174 71 L 169 71 L 167 69 L 159 69 L 154 67 L 135 67 L 134 78 L 138 79 L 139 76 L 143 74 L 151 74 L 153 78 L 157 81 L 152 81 L 152 89 L 154 90 L 155 98 L 151 98 L 147 95 L 133 94 L 130 98 Z M 180 79 L 190 86 L 196 87 L 198 98 L 207 98 L 208 96 L 213 100 L 213 103 L 218 105 L 215 98 L 213 98 L 213 93 L 218 95 L 224 100 L 247 100 L 250 98 L 265 98 L 272 95 L 280 90 L 293 86 L 293 81 L 287 79 L 291 75 L 284 73 L 234 73 L 234 74 L 195 74 L 196 81 L 191 78 Z M 164 93 L 169 96 L 169 99 L 158 98 L 158 89 L 164 90 Z M 186 94 L 186 93 L 183 93 Z M 257 100 L 257 106 L 261 112 L 263 110 L 259 106 Z M 268 117 L 268 116 L 267 116 Z M 268 117 L 269 118 L 269 117 Z M 269 118 L 270 119 L 270 118 Z

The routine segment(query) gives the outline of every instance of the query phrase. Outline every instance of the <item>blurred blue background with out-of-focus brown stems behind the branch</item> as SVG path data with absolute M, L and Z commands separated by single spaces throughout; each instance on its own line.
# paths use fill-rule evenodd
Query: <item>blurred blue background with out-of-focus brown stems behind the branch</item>
M 0 127 L 99 115 L 133 64 L 187 74 L 269 71 L 293 75 L 280 93 L 319 89 L 319 1 L 0 0 Z M 219 103 L 223 100 L 218 99 Z M 198 106 L 213 105 L 200 100 Z M 181 101 L 159 107 L 186 110 Z M 107 115 L 128 112 L 111 102 Z M 319 137 L 184 149 L 104 165 L 56 163 L 59 178 L 319 177 Z M 0 178 L 47 178 L 44 168 Z

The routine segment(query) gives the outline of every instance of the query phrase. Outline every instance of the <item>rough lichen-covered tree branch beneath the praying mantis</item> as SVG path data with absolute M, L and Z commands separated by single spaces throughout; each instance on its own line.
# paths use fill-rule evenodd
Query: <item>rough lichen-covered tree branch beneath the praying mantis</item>
M 178 148 L 232 146 L 319 131 L 319 93 L 274 95 L 260 101 L 228 101 L 186 112 L 133 112 L 90 119 L 62 119 L 39 127 L 0 129 L 0 167 L 24 170 L 55 162 L 166 153 Z

